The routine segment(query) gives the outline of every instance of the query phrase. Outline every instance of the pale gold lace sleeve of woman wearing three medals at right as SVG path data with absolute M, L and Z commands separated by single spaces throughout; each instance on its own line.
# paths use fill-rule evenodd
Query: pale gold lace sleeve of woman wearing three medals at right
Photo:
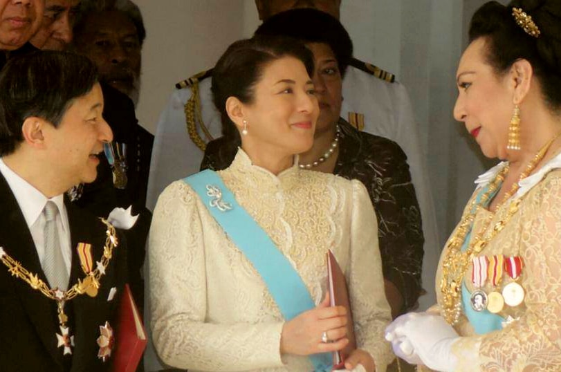
M 546 178 L 520 210 L 511 240 L 524 258 L 526 311 L 493 333 L 454 344 L 459 371 L 559 371 L 561 366 L 561 178 Z M 476 362 L 477 361 L 477 362 Z

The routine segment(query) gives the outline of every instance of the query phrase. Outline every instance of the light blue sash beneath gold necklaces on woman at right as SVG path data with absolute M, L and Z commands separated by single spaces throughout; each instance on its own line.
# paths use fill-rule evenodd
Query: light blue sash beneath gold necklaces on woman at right
M 488 188 L 489 188 L 488 186 L 481 188 L 481 191 L 476 196 L 476 203 L 475 203 L 476 206 L 474 208 L 477 208 L 477 205 L 479 205 L 481 201 L 481 196 L 483 196 L 483 194 L 487 192 Z M 489 201 L 493 199 L 493 196 L 495 194 L 489 196 L 489 198 L 487 199 L 488 200 L 487 203 L 489 203 Z M 472 212 L 474 211 L 472 210 Z M 470 232 L 468 232 L 468 234 L 466 234 L 466 239 L 463 239 L 463 245 L 461 246 L 462 252 L 468 249 L 468 243 L 470 241 L 470 238 L 471 238 L 471 230 Z M 483 311 L 473 310 L 470 305 L 470 299 L 471 299 L 470 291 L 468 290 L 468 288 L 466 288 L 465 283 L 461 283 L 461 302 L 463 306 L 463 313 L 470 321 L 475 333 L 477 333 L 478 335 L 484 335 L 489 332 L 499 331 L 503 328 L 502 326 L 502 322 L 504 321 L 503 317 L 490 313 L 489 310 L 487 309 L 484 309 Z

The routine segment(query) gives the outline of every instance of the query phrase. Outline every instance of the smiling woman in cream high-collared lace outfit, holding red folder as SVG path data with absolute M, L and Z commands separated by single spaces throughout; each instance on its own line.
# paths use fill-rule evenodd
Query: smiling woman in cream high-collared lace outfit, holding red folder
M 307 355 L 340 350 L 346 313 L 326 298 L 326 253 L 347 277 L 358 349 L 345 367 L 385 371 L 389 305 L 376 215 L 360 182 L 300 169 L 319 115 L 313 57 L 282 39 L 238 41 L 214 68 L 222 120 L 241 133 L 217 172 L 291 263 L 318 307 L 285 322 L 244 253 L 183 180 L 160 195 L 149 237 L 151 325 L 166 364 L 190 371 L 302 371 Z M 295 161 L 296 160 L 296 161 Z M 373 249 L 374 248 L 374 249 Z M 330 340 L 331 342 L 327 342 Z

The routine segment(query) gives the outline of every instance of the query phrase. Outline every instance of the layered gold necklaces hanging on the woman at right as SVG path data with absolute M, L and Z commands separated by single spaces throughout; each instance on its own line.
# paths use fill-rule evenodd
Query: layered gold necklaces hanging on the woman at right
M 517 192 L 519 182 L 531 174 L 537 164 L 544 158 L 553 141 L 555 141 L 559 136 L 561 136 L 561 133 L 551 138 L 551 140 L 549 140 L 544 147 L 535 154 L 534 158 L 528 163 L 526 169 L 524 169 L 524 171 L 520 174 L 518 182 L 514 183 L 511 190 L 504 194 L 502 202 L 499 203 L 495 209 L 495 213 L 498 213 L 506 201 L 508 201 L 508 199 Z M 452 326 L 457 324 L 461 315 L 461 286 L 463 283 L 463 277 L 466 275 L 466 271 L 468 270 L 469 263 L 472 261 L 472 258 L 475 257 L 475 254 L 479 254 L 479 252 L 481 252 L 481 250 L 483 250 L 486 245 L 504 229 L 508 221 L 510 221 L 518 211 L 518 207 L 522 201 L 522 198 L 517 198 L 515 201 L 512 201 L 508 207 L 506 216 L 493 225 L 493 230 L 491 230 L 489 236 L 484 239 L 491 220 L 493 219 L 489 218 L 487 224 L 481 228 L 479 235 L 475 236 L 475 238 L 470 241 L 468 248 L 463 252 L 461 251 L 461 247 L 466 240 L 466 236 L 472 229 L 473 222 L 475 221 L 477 208 L 485 205 L 490 195 L 495 192 L 497 187 L 499 187 L 499 184 L 504 180 L 504 176 L 508 173 L 508 169 L 509 167 L 506 165 L 503 169 L 501 169 L 501 171 L 499 171 L 495 179 L 489 184 L 487 192 L 481 195 L 478 205 L 476 205 L 477 197 L 473 198 L 470 203 L 470 207 L 468 208 L 469 212 L 462 218 L 456 233 L 450 238 L 448 245 L 446 245 L 446 253 L 442 266 L 442 279 L 440 282 L 440 290 L 442 294 L 441 315 L 444 317 L 446 322 Z

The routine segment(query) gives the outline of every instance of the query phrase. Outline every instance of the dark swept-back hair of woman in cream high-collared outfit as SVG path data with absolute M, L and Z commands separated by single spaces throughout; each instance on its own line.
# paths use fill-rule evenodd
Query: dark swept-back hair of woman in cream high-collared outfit
M 239 146 L 236 126 L 226 113 L 228 97 L 237 97 L 245 104 L 254 100 L 253 88 L 265 67 L 282 57 L 302 61 L 308 75 L 313 75 L 313 55 L 300 41 L 286 37 L 253 37 L 234 42 L 220 57 L 212 71 L 212 100 L 222 119 L 222 134 L 232 146 Z

